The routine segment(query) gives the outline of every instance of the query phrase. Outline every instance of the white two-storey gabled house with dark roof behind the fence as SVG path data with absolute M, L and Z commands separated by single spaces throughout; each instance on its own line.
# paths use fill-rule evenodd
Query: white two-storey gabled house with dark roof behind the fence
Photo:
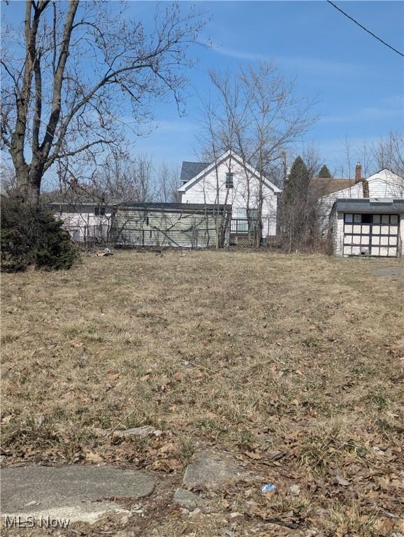
M 229 150 L 215 162 L 183 162 L 182 185 L 178 189 L 181 203 L 230 205 L 231 234 L 247 234 L 256 221 L 262 185 L 262 236 L 276 234 L 277 194 L 280 189 Z

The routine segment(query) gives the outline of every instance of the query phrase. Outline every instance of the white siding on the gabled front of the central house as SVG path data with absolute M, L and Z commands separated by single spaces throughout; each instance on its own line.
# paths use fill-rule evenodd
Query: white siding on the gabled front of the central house
M 226 173 L 233 173 L 233 188 L 226 188 Z M 182 203 L 227 204 L 232 206 L 233 218 L 238 208 L 257 208 L 259 178 L 233 157 L 226 159 L 182 192 Z M 250 191 L 250 192 L 249 192 Z M 277 196 L 263 185 L 263 236 L 276 234 Z

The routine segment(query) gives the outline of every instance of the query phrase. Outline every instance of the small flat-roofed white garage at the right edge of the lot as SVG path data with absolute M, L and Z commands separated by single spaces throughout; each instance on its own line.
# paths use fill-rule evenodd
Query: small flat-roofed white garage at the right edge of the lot
M 335 255 L 401 257 L 404 199 L 337 199 L 329 229 Z

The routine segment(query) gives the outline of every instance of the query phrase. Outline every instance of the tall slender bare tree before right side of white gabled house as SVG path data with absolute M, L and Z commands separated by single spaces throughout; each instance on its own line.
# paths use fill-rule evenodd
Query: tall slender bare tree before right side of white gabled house
M 236 76 L 211 72 L 210 79 L 217 101 L 204 103 L 205 138 L 200 136 L 201 145 L 212 159 L 232 149 L 243 164 L 251 164 L 258 171 L 257 184 L 254 174 L 243 166 L 247 213 L 254 211 L 256 222 L 252 242 L 259 247 L 264 225 L 264 178 L 275 173 L 275 163 L 279 167 L 289 144 L 315 121 L 310 115 L 312 103 L 296 95 L 295 81 L 284 78 L 273 61 L 261 62 L 257 68 L 241 68 Z M 217 194 L 220 190 L 223 185 L 217 182 Z

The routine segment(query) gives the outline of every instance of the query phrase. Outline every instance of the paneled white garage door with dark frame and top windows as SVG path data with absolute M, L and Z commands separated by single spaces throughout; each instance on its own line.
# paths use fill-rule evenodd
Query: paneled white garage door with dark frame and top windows
M 344 215 L 344 255 L 396 257 L 398 215 Z

